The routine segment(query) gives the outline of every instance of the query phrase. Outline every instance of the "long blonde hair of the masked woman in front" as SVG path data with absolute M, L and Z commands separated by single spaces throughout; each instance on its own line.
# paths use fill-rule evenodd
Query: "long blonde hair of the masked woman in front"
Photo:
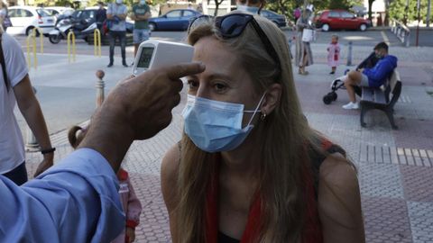
M 281 85 L 280 103 L 254 127 L 262 139 L 261 148 L 255 149 L 260 152 L 257 192 L 262 202 L 262 225 L 257 242 L 298 242 L 306 210 L 302 172 L 306 168 L 310 171 L 306 145 L 316 144 L 318 134 L 309 128 L 301 111 L 284 33 L 260 16 L 255 15 L 254 19 L 278 53 L 281 71 L 252 24 L 248 24 L 239 37 L 223 39 L 213 22 L 208 21 L 190 30 L 188 41 L 194 45 L 201 38 L 216 37 L 249 71 L 256 94 L 263 94 L 273 83 Z M 219 154 L 200 150 L 185 134 L 180 148 L 176 235 L 178 242 L 206 242 L 206 197 Z

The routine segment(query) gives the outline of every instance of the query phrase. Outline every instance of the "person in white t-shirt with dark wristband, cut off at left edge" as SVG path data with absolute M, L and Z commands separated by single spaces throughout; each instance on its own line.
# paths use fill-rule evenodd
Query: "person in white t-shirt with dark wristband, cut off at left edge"
M 14 116 L 15 103 L 41 146 L 43 160 L 34 176 L 53 165 L 55 148 L 51 147 L 41 106 L 33 93 L 21 45 L 1 28 L 0 51 L 0 174 L 20 185 L 28 178 L 23 135 Z

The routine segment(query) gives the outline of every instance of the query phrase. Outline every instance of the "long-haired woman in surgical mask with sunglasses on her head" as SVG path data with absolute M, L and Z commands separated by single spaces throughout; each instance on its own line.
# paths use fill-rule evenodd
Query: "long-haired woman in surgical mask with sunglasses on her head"
M 304 118 L 284 33 L 233 13 L 188 40 L 206 70 L 161 165 L 173 242 L 364 242 L 355 168 Z

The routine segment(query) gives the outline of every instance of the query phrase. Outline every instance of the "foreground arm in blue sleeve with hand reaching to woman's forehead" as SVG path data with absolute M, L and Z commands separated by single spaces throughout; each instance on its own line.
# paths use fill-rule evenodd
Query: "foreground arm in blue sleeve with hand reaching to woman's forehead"
M 169 125 L 191 63 L 150 69 L 116 85 L 76 151 L 18 186 L 0 175 L 0 242 L 110 242 L 124 229 L 115 172 L 134 139 Z M 143 92 L 146 91 L 146 92 Z

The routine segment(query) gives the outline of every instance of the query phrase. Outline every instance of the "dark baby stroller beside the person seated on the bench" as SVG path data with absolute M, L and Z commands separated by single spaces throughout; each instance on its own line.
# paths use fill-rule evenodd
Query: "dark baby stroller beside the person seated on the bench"
M 376 58 L 376 55 L 374 53 L 374 51 L 367 57 L 365 58 L 359 65 L 358 67 L 356 67 L 357 69 L 361 69 L 364 67 L 374 67 L 377 63 L 377 61 L 379 60 L 379 58 Z M 327 93 L 325 96 L 323 96 L 323 103 L 325 104 L 329 104 L 333 101 L 336 101 L 336 98 L 338 97 L 338 95 L 336 94 L 336 91 L 338 89 L 345 89 L 345 84 L 344 84 L 344 80 L 345 80 L 345 76 L 346 74 L 349 72 L 349 69 L 345 69 L 345 75 L 344 76 L 338 76 L 336 79 L 334 79 L 331 83 L 331 92 Z M 361 96 L 362 94 L 362 89 L 359 86 L 354 86 L 355 88 L 355 94 Z

